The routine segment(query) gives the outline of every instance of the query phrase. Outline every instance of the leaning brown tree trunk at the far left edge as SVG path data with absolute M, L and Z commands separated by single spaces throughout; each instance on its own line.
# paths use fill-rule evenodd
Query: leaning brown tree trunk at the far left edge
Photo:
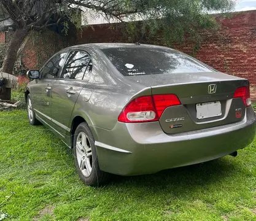
M 17 58 L 17 52 L 20 48 L 22 42 L 27 36 L 29 29 L 17 29 L 10 41 L 10 47 L 7 50 L 6 58 L 2 64 L 2 72 L 12 74 L 14 70 L 14 64 Z M 10 88 L 2 87 L 0 88 L 0 99 L 10 100 Z

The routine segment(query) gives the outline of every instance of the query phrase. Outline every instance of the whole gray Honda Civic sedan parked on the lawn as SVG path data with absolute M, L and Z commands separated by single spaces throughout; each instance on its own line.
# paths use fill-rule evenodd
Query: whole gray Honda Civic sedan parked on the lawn
M 87 185 L 236 156 L 255 136 L 249 81 L 171 48 L 77 45 L 28 76 L 29 123 L 73 150 Z

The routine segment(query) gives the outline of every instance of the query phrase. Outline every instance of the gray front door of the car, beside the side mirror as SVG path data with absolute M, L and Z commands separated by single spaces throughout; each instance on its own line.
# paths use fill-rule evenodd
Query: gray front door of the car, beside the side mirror
M 41 69 L 40 79 L 36 80 L 36 84 L 31 88 L 34 111 L 44 120 L 45 123 L 51 125 L 50 99 L 52 93 L 52 85 L 55 82 L 68 52 L 59 53 L 48 61 L 44 68 Z

